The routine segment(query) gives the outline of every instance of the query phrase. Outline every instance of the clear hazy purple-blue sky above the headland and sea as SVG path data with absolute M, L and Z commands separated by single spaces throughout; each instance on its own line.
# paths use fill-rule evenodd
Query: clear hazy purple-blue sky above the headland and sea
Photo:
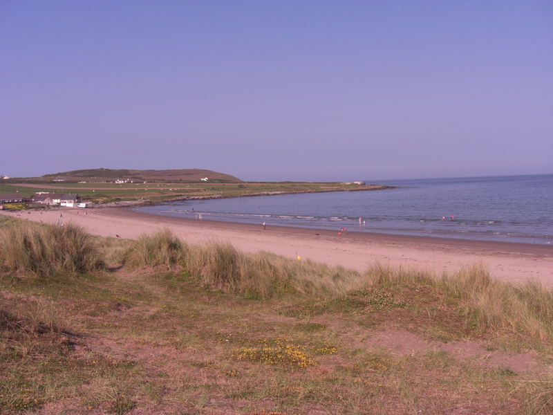
M 553 173 L 553 1 L 0 1 L 0 174 Z

